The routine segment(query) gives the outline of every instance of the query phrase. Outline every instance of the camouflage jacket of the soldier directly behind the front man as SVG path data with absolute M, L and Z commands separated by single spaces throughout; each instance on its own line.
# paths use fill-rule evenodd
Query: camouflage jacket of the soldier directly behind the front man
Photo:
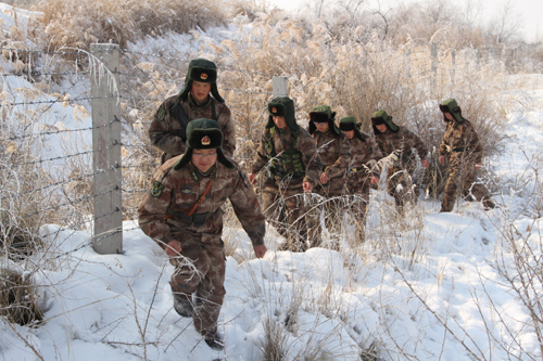
M 200 118 L 217 120 L 224 136 L 223 151 L 228 157 L 232 157 L 236 151 L 236 128 L 228 106 L 217 102 L 212 96 L 205 104 L 198 105 L 192 101 L 190 94 L 182 102 L 179 101 L 178 95 L 174 95 L 161 104 L 149 127 L 151 143 L 164 152 L 163 163 L 185 153 L 185 141 L 180 136 L 180 132 L 185 132 L 185 129 L 171 114 L 171 111 L 176 105 L 181 106 L 189 120 Z

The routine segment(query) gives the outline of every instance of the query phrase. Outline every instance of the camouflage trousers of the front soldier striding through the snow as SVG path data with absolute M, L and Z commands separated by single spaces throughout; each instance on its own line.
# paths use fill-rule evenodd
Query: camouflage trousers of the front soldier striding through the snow
M 172 258 L 175 267 L 172 291 L 193 304 L 193 321 L 197 331 L 206 338 L 217 333 L 217 320 L 226 294 L 224 243 L 202 243 L 182 240 L 181 255 Z

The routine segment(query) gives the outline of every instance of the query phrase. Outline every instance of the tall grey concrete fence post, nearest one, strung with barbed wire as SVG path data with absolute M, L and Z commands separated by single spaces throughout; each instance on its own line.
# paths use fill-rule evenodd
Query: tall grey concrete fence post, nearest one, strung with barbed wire
M 94 183 L 92 246 L 102 255 L 123 253 L 121 172 L 119 48 L 93 43 L 91 52 L 91 107 Z

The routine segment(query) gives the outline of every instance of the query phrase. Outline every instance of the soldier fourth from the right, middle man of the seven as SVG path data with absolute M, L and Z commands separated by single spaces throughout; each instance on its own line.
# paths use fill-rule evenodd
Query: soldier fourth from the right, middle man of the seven
M 351 162 L 351 144 L 345 134 L 334 124 L 336 112 L 328 105 L 315 106 L 310 112 L 308 131 L 317 143 L 317 152 L 323 163 L 319 182 L 314 192 L 324 196 L 325 225 L 331 233 L 340 230 L 343 210 L 342 196 L 345 195 L 346 169 Z M 318 210 L 319 207 L 314 207 Z M 321 232 L 320 215 L 312 212 L 310 240 L 312 246 L 319 246 Z M 334 248 L 339 248 L 334 245 Z

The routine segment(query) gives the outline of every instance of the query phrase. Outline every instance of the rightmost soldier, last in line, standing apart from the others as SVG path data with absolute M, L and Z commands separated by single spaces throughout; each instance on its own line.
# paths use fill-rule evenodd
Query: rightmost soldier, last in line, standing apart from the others
M 440 104 L 446 130 L 440 145 L 439 162 L 449 160 L 449 179 L 445 184 L 445 195 L 441 202 L 440 211 L 453 210 L 458 191 L 464 196 L 473 196 L 482 201 L 485 210 L 494 208 L 487 189 L 476 183 L 477 170 L 482 167 L 482 146 L 469 120 L 462 116 L 462 109 L 454 99 Z

